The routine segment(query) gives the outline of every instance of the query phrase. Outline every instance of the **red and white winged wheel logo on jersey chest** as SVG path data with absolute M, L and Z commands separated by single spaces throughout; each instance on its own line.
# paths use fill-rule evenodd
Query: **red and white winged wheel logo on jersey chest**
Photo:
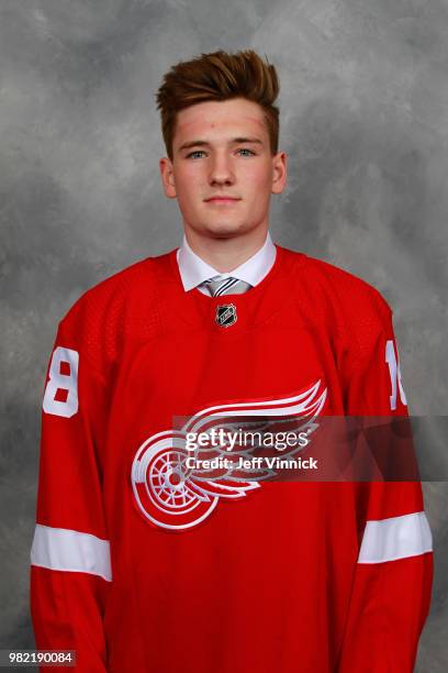
M 310 433 L 317 427 L 314 420 L 325 404 L 326 394 L 326 388 L 317 380 L 290 397 L 208 407 L 190 417 L 179 430 L 152 435 L 139 446 L 132 465 L 132 486 L 138 509 L 153 525 L 181 531 L 209 517 L 220 499 L 246 497 L 248 492 L 260 488 L 259 482 L 275 474 L 266 467 L 242 470 L 237 466 L 239 457 L 247 457 L 257 446 L 253 443 L 249 451 L 246 446 L 238 445 L 237 450 L 233 446 L 231 456 L 225 444 L 191 450 L 187 449 L 189 433 L 210 434 L 212 428 L 224 428 L 228 432 L 235 426 L 261 432 L 269 428 L 270 432 L 276 432 L 276 428 L 284 427 L 285 420 L 291 422 L 291 419 L 296 430 Z M 282 452 L 282 457 L 300 449 L 298 445 L 290 448 Z M 227 461 L 221 470 L 197 466 L 201 456 L 224 455 Z

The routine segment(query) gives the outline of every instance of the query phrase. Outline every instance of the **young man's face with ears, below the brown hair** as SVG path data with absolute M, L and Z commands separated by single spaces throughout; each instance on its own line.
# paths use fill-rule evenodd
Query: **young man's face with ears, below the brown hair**
M 172 152 L 172 163 L 160 159 L 160 173 L 186 230 L 231 238 L 267 229 L 270 195 L 285 185 L 287 156 L 271 156 L 260 106 L 237 98 L 181 110 Z M 235 200 L 210 200 L 220 196 Z

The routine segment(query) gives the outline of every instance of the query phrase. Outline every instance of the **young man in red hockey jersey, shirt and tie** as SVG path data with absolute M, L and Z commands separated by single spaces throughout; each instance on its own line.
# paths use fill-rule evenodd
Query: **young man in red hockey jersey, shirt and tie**
M 271 241 L 278 90 L 251 51 L 165 76 L 160 172 L 182 243 L 59 323 L 31 602 L 37 648 L 76 650 L 77 671 L 413 671 L 433 576 L 417 481 L 188 462 L 189 433 L 216 417 L 407 413 L 385 300 Z

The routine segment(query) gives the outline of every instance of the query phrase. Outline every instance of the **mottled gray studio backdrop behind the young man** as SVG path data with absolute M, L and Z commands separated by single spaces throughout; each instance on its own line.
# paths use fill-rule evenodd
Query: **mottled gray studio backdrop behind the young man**
M 88 287 L 180 243 L 154 93 L 171 64 L 255 48 L 281 80 L 289 186 L 271 233 L 394 309 L 410 411 L 447 415 L 447 0 L 1 0 L 1 647 L 34 647 L 29 550 L 40 405 L 58 320 Z M 438 438 L 440 439 L 440 438 Z M 417 671 L 448 665 L 448 490 Z

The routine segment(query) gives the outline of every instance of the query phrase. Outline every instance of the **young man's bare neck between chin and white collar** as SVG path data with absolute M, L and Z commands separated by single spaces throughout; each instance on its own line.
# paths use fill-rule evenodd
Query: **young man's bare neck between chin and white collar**
M 265 244 L 268 227 L 229 235 L 206 235 L 186 228 L 186 239 L 201 260 L 221 273 L 229 273 L 255 255 Z

